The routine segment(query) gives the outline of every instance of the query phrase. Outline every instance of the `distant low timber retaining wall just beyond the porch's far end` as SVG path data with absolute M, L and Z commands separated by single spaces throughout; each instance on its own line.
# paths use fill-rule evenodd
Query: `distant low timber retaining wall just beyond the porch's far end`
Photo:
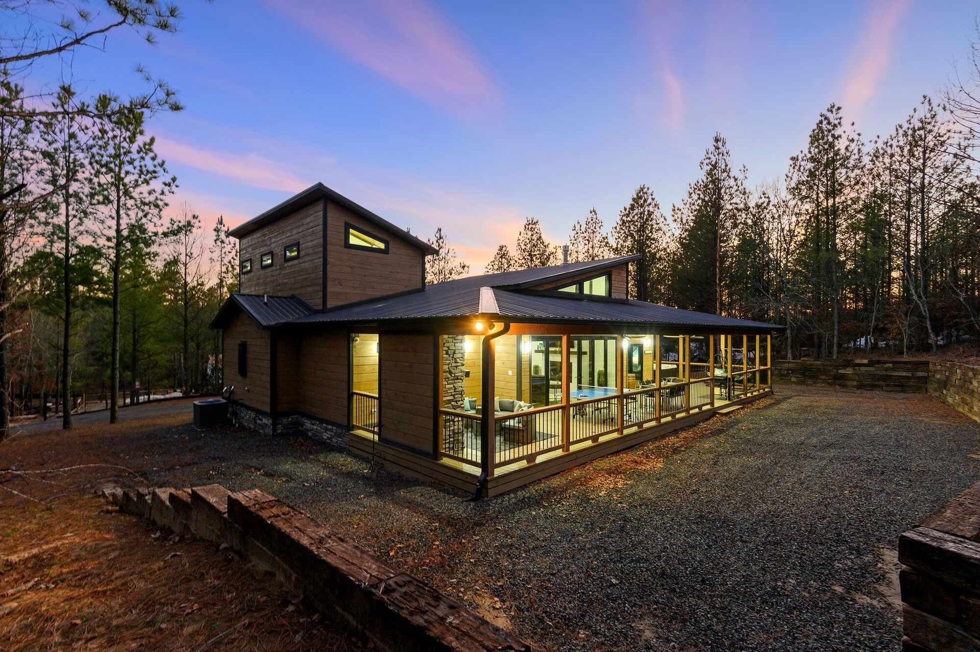
M 926 360 L 773 360 L 773 382 L 821 387 L 852 387 L 884 391 L 924 392 Z

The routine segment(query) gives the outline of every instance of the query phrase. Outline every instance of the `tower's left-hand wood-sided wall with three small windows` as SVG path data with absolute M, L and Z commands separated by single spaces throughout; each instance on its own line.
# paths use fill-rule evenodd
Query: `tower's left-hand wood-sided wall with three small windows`
M 252 271 L 240 275 L 244 294 L 295 293 L 314 308 L 323 298 L 323 210 L 317 201 L 292 215 L 263 226 L 239 241 L 238 260 L 251 259 Z M 299 258 L 286 262 L 283 248 L 300 243 Z M 262 255 L 272 252 L 272 267 L 262 269 Z

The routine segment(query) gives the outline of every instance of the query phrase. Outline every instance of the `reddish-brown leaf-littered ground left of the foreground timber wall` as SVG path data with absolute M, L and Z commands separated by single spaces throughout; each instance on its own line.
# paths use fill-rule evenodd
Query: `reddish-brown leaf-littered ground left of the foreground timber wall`
M 91 414 L 71 434 L 52 421 L 18 428 L 0 444 L 0 469 L 101 461 L 145 472 L 140 448 L 154 446 L 153 432 L 185 427 L 189 409 L 124 409 L 111 434 Z M 0 472 L 0 649 L 364 649 L 230 552 L 106 506 L 94 488 L 113 476 L 144 483 L 110 466 Z

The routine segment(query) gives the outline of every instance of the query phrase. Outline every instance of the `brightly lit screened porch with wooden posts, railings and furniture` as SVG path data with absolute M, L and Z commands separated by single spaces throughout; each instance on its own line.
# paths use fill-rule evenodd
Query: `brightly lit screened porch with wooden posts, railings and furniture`
M 770 389 L 768 334 L 557 330 L 512 326 L 486 367 L 484 335 L 439 336 L 440 461 L 501 475 Z

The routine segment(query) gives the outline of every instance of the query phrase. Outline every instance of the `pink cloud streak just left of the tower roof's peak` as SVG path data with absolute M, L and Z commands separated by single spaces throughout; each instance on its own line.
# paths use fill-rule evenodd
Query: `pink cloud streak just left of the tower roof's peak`
M 256 188 L 299 192 L 313 184 L 296 176 L 287 166 L 255 152 L 220 152 L 161 137 L 157 138 L 157 152 L 169 163 L 233 178 Z

